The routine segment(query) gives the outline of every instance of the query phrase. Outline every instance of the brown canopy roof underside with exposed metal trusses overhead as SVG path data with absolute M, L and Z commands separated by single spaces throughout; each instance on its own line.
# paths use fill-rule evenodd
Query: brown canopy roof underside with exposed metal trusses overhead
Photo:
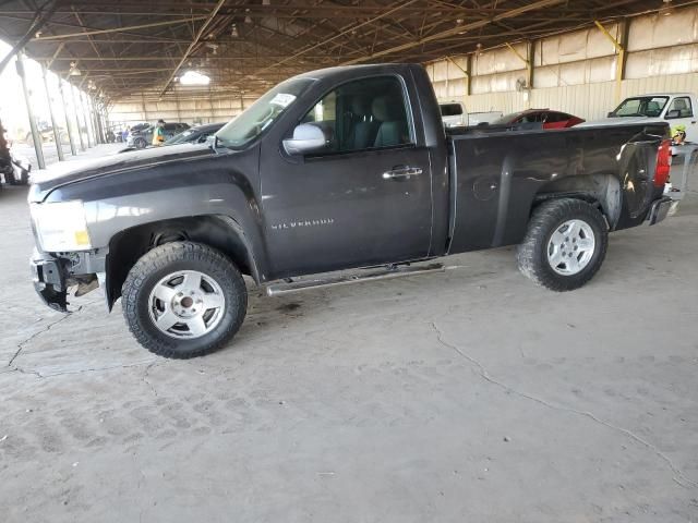
M 11 0 L 0 38 L 106 100 L 167 97 L 190 71 L 210 78 L 207 93 L 255 96 L 313 69 L 428 62 L 690 3 Z

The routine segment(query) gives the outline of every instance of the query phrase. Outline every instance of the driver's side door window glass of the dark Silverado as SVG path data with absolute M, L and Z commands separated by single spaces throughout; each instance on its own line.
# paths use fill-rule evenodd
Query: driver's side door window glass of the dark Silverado
M 348 153 L 413 143 L 401 83 L 393 76 L 340 85 L 311 108 L 301 123 L 327 137 L 328 153 Z

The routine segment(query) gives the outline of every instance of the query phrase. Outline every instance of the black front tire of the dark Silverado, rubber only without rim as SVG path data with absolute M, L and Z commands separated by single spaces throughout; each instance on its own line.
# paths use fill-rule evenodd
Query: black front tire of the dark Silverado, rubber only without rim
M 151 292 L 178 270 L 194 270 L 214 279 L 225 296 L 221 319 L 198 338 L 172 338 L 152 319 Z M 123 316 L 136 341 L 154 354 L 181 360 L 220 349 L 238 332 L 248 309 L 244 280 L 233 263 L 218 251 L 192 242 L 167 243 L 146 253 L 129 271 L 121 295 Z

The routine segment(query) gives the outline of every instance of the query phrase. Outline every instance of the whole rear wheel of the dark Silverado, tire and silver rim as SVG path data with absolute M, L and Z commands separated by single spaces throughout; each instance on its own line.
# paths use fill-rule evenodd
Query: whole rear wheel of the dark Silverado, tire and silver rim
M 599 209 L 579 199 L 554 199 L 533 211 L 516 257 L 519 270 L 539 285 L 571 291 L 593 278 L 607 245 Z

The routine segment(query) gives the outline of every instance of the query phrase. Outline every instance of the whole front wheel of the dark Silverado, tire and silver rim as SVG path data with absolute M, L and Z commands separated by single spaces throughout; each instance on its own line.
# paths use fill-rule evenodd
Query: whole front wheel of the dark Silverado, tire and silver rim
M 240 329 L 248 308 L 244 280 L 232 262 L 192 242 L 149 251 L 129 272 L 121 294 L 137 342 L 173 358 L 222 346 Z

